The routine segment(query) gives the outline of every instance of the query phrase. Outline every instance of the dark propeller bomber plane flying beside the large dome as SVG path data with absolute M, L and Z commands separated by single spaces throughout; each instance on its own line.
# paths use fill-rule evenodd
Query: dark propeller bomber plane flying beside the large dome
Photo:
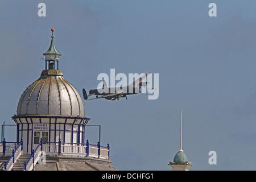
M 119 98 L 121 98 L 121 97 L 125 97 L 127 100 L 127 95 L 137 94 L 137 93 L 135 93 L 135 89 L 139 89 L 139 93 L 141 93 L 141 87 L 147 86 L 147 84 L 149 83 L 149 82 L 142 82 L 142 80 L 144 80 L 150 74 L 151 73 L 146 73 L 146 75 L 140 77 L 138 80 L 135 80 L 130 85 L 125 86 L 125 87 L 121 86 L 118 89 L 117 88 L 108 88 L 106 81 L 103 80 L 102 89 L 91 89 L 91 90 L 89 90 L 89 95 L 87 95 L 85 89 L 82 89 L 82 96 L 84 96 L 84 100 L 88 100 L 88 97 L 90 97 L 90 96 L 96 96 L 96 98 L 90 98 L 89 100 L 105 98 L 106 100 L 114 101 L 114 100 L 119 100 Z M 129 86 L 133 86 L 133 93 L 129 93 Z M 138 86 L 139 86 L 139 88 L 138 88 Z M 115 93 L 110 93 L 110 90 L 112 90 L 112 89 L 115 90 Z M 154 88 L 152 88 L 152 89 L 154 89 Z M 109 92 L 104 93 L 103 90 L 108 90 Z M 127 91 L 126 91 L 126 93 L 123 93 L 122 90 L 127 90 Z M 98 97 L 98 96 L 101 96 L 101 97 Z

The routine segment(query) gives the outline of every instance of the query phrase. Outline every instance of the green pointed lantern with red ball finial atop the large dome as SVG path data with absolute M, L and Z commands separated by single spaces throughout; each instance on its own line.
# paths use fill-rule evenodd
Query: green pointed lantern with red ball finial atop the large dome
M 54 29 L 52 28 L 52 40 L 51 45 L 48 49 L 48 51 L 44 52 L 43 55 L 46 56 L 46 69 L 47 69 L 47 61 L 48 61 L 48 69 L 55 69 L 55 61 L 57 62 L 57 69 L 59 69 L 59 56 L 61 56 L 61 53 L 57 51 L 55 45 L 54 45 Z M 51 63 L 52 62 L 52 63 Z

